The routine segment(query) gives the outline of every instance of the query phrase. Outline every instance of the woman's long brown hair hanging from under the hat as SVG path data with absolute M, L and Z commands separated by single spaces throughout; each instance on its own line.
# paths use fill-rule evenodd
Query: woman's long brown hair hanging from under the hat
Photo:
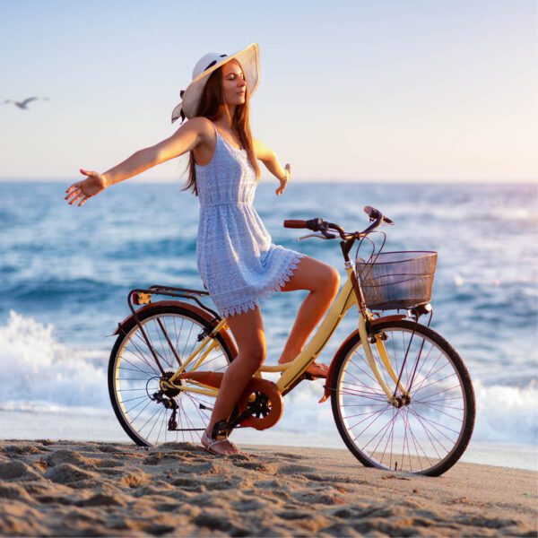
M 237 60 L 232 61 L 237 62 Z M 202 97 L 198 103 L 195 117 L 207 117 L 211 121 L 216 121 L 226 114 L 226 104 L 222 92 L 221 70 L 222 67 L 215 69 L 207 82 L 205 82 L 204 91 L 202 92 Z M 252 168 L 256 172 L 256 179 L 259 180 L 261 170 L 256 160 L 254 144 L 252 142 L 252 133 L 250 132 L 249 101 L 250 93 L 247 88 L 245 93 L 245 103 L 238 105 L 235 108 L 235 113 L 231 118 L 231 128 L 238 135 L 241 146 L 247 150 L 248 161 L 250 161 Z M 183 187 L 182 190 L 192 190 L 193 194 L 197 196 L 198 189 L 196 188 L 195 153 L 189 153 L 190 155 L 187 164 L 187 169 L 189 170 L 188 181 L 187 185 Z

